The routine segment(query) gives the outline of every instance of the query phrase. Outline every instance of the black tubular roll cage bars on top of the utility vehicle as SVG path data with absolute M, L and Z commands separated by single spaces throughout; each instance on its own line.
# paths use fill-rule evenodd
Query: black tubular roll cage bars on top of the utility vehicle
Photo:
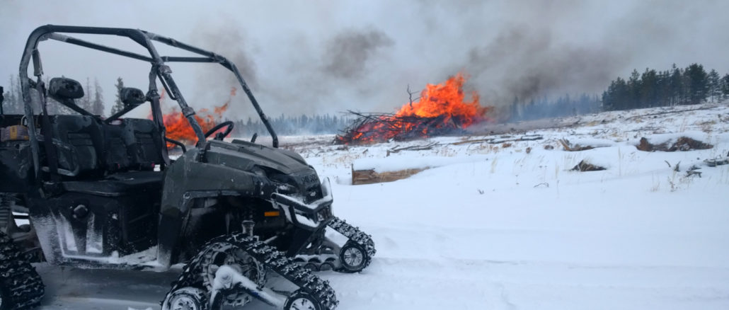
M 105 45 L 95 44 L 93 42 L 87 42 L 82 39 L 67 36 L 65 34 L 101 34 L 111 36 L 125 36 L 144 47 L 149 52 L 149 55 L 140 55 L 138 53 L 132 53 L 114 47 L 107 47 Z M 233 74 L 235 74 L 235 78 L 238 79 L 238 82 L 241 84 L 241 88 L 243 88 L 243 91 L 246 93 L 249 101 L 251 101 L 251 104 L 253 104 L 254 108 L 256 109 L 256 112 L 260 116 L 261 121 L 268 130 L 268 133 L 270 133 L 270 136 L 273 139 L 273 147 L 278 147 L 278 136 L 276 136 L 276 132 L 273 131 L 273 127 L 270 125 L 268 117 L 263 113 L 263 110 L 258 104 L 256 98 L 253 96 L 253 93 L 246 84 L 246 81 L 243 80 L 243 77 L 238 71 L 238 68 L 233 62 L 227 60 L 227 58 L 223 57 L 222 55 L 208 52 L 207 50 L 202 50 L 189 44 L 184 44 L 166 36 L 160 36 L 158 34 L 153 34 L 151 32 L 142 31 L 139 29 L 46 25 L 36 28 L 31 33 L 31 35 L 28 37 L 28 42 L 26 42 L 26 48 L 25 50 L 23 50 L 23 57 L 20 59 L 20 86 L 22 88 L 23 101 L 25 103 L 24 112 L 26 115 L 26 120 L 28 122 L 28 133 L 31 147 L 33 149 L 32 153 L 34 167 L 36 170 L 36 177 L 39 174 L 39 133 L 36 133 L 37 129 L 36 125 L 34 124 L 34 111 L 30 88 L 32 86 L 39 91 L 39 96 L 41 96 L 42 101 L 41 104 L 44 104 L 45 86 L 42 80 L 43 68 L 40 53 L 38 50 L 38 44 L 39 42 L 45 41 L 47 39 L 79 45 L 93 50 L 101 50 L 102 52 L 121 55 L 150 63 L 151 69 L 149 70 L 149 89 L 147 90 L 146 96 L 152 105 L 152 121 L 159 128 L 159 132 L 162 135 L 163 141 L 165 136 L 165 125 L 163 123 L 162 110 L 160 109 L 160 94 L 157 91 L 157 79 L 160 80 L 160 83 L 163 85 L 170 98 L 174 101 L 177 101 L 182 114 L 184 115 L 184 117 L 187 118 L 187 121 L 190 123 L 190 126 L 192 126 L 193 131 L 195 131 L 195 136 L 197 136 L 198 138 L 198 143 L 196 144 L 197 147 L 200 147 L 201 144 L 206 141 L 205 134 L 203 133 L 203 129 L 200 127 L 198 121 L 195 120 L 195 110 L 192 109 L 191 106 L 187 105 L 187 101 L 185 100 L 184 96 L 182 96 L 179 88 L 177 88 L 176 82 L 172 78 L 172 71 L 170 67 L 167 66 L 165 63 L 219 63 L 226 69 L 232 71 Z M 188 52 L 201 55 L 201 57 L 160 56 L 159 53 L 157 53 L 155 45 L 152 43 L 153 41 L 161 42 L 163 44 L 167 44 L 171 47 L 176 47 L 181 50 L 186 50 Z M 28 77 L 28 64 L 31 62 L 31 60 L 33 61 L 33 75 L 36 77 L 36 81 L 31 80 L 31 78 Z M 117 113 L 116 115 L 112 115 L 112 117 L 110 118 L 114 119 L 120 117 L 126 112 L 129 112 L 131 109 L 133 109 L 133 107 L 131 107 L 130 109 L 122 109 L 122 112 Z

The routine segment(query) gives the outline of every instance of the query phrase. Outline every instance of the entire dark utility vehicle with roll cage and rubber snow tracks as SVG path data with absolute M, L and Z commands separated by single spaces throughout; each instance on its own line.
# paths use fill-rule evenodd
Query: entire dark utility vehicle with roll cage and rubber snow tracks
M 149 55 L 69 34 L 127 37 Z M 123 88 L 120 112 L 93 115 L 76 104 L 84 96 L 79 82 L 44 77 L 38 46 L 49 39 L 149 63 L 147 91 Z M 153 42 L 198 56 L 162 56 Z M 255 135 L 224 141 L 230 122 L 203 132 L 172 78 L 168 63 L 175 62 L 230 70 L 273 146 L 254 143 Z M 44 287 L 30 263 L 42 260 L 133 270 L 186 263 L 160 296 L 163 309 L 220 309 L 252 298 L 278 309 L 334 309 L 334 290 L 311 271 L 354 273 L 375 255 L 370 236 L 332 215 L 329 181 L 300 155 L 278 149 L 268 118 L 221 55 L 136 29 L 41 26 L 23 51 L 20 84 L 24 115 L 0 116 L 0 309 L 39 305 Z M 157 85 L 179 104 L 197 136 L 194 147 L 165 136 Z M 73 113 L 50 115 L 51 104 Z M 149 106 L 151 120 L 125 117 L 139 106 Z M 171 159 L 166 142 L 182 155 Z M 283 283 L 292 292 L 267 287 L 270 274 L 290 282 Z

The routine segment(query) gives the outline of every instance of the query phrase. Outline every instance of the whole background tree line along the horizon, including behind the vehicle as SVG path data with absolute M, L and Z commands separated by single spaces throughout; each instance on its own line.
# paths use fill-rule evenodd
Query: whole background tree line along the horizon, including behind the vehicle
M 46 85 L 47 85 L 46 81 Z M 115 98 L 109 115 L 123 108 L 120 91 L 124 87 L 121 77 L 114 85 Z M 85 94 L 77 104 L 95 115 L 106 115 L 104 91 L 97 79 L 86 78 Z M 4 93 L 4 112 L 23 114 L 23 96 L 17 77 L 9 78 L 9 87 Z M 612 80 L 602 96 L 582 93 L 579 96 L 564 95 L 553 100 L 542 98 L 514 98 L 507 108 L 508 121 L 536 120 L 547 117 L 583 115 L 601 111 L 639 109 L 655 106 L 675 106 L 682 104 L 701 104 L 729 99 L 729 74 L 723 77 L 712 69 L 706 71 L 701 64 L 693 63 L 686 68 L 675 64 L 671 69 L 656 71 L 645 69 L 641 74 L 633 70 L 631 76 Z M 52 101 L 52 99 L 49 99 Z M 70 114 L 70 109 L 61 104 L 48 104 L 50 114 Z M 108 116 L 108 115 L 107 115 Z M 346 128 L 354 117 L 347 115 L 280 115 L 270 119 L 276 132 L 282 135 L 305 133 L 338 133 Z M 253 133 L 268 134 L 265 126 L 256 118 L 234 120 L 235 133 L 249 136 Z

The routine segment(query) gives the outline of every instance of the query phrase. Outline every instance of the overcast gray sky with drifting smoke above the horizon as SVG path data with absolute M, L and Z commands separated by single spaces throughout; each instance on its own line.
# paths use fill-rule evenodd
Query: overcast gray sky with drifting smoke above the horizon
M 393 112 L 408 101 L 408 85 L 420 90 L 461 70 L 482 104 L 509 104 L 515 96 L 601 93 L 634 68 L 702 63 L 729 73 L 727 12 L 729 1 L 6 0 L 0 85 L 17 75 L 28 34 L 50 23 L 141 28 L 217 51 L 273 116 Z M 117 77 L 146 90 L 144 63 L 55 42 L 40 49 L 49 76 L 98 78 L 107 109 Z M 234 86 L 217 68 L 172 69 L 198 109 L 222 104 Z M 251 115 L 241 95 L 226 117 Z

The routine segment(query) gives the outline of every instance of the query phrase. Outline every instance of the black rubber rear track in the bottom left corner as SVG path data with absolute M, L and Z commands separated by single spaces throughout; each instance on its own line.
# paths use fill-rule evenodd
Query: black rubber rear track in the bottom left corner
M 4 233 L 0 233 L 0 285 L 10 290 L 9 300 L 3 299 L 3 303 L 12 310 L 36 308 L 45 293 L 36 269 Z

